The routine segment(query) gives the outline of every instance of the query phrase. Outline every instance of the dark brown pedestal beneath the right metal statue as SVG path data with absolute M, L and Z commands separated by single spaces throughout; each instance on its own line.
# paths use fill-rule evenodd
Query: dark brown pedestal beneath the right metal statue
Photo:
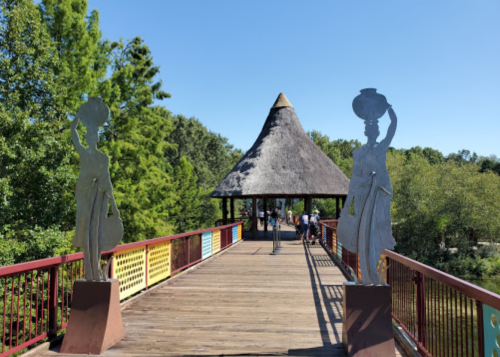
M 396 355 L 389 285 L 344 283 L 342 344 L 349 357 Z

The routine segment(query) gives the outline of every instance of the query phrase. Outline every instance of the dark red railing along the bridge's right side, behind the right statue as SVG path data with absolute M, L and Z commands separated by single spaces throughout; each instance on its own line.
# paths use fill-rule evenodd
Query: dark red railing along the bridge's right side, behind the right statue
M 360 279 L 358 255 L 341 247 L 336 228 L 320 222 L 320 231 L 337 261 Z M 420 355 L 500 355 L 500 295 L 389 250 L 381 259 L 389 266 L 393 319 Z

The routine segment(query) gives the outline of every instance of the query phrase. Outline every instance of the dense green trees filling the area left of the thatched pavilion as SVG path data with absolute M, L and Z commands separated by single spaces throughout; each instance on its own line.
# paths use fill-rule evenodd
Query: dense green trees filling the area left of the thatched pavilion
M 99 149 L 111 157 L 125 242 L 220 218 L 208 194 L 241 151 L 158 105 L 170 97 L 158 73 L 141 38 L 103 37 L 86 0 L 0 0 L 0 264 L 72 250 L 79 162 L 69 125 L 89 96 L 111 110 Z

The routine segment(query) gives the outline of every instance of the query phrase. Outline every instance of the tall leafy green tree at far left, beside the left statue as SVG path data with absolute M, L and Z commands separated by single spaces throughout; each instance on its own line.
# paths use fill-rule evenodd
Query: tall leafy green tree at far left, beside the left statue
M 0 1 L 0 221 L 67 224 L 75 184 L 59 60 L 32 1 Z

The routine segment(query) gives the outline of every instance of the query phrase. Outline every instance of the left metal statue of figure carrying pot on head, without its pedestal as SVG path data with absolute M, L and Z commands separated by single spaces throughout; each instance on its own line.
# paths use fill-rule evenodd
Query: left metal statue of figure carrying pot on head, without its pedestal
M 82 104 L 71 123 L 71 138 L 80 155 L 80 175 L 76 185 L 75 247 L 83 248 L 85 279 L 107 281 L 105 265 L 101 272 L 101 252 L 113 249 L 123 237 L 123 222 L 113 195 L 109 175 L 109 156 L 97 149 L 99 126 L 109 117 L 109 108 L 100 98 L 91 97 Z M 78 136 L 78 121 L 87 127 L 85 148 Z M 113 214 L 108 216 L 109 204 Z

